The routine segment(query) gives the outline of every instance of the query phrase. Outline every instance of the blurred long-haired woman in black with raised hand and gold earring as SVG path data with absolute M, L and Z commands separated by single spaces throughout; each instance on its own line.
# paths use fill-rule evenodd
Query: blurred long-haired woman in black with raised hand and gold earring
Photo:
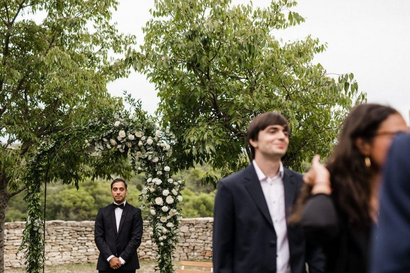
M 371 226 L 377 221 L 381 172 L 394 135 L 406 131 L 393 108 L 363 104 L 347 116 L 327 160 L 316 155 L 290 223 L 323 246 L 326 272 L 366 272 Z

